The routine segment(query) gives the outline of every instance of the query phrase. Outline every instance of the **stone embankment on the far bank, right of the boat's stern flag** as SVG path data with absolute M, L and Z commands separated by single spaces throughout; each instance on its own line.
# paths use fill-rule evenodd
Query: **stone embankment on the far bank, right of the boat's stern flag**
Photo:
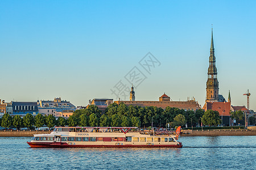
M 256 130 L 246 129 L 216 129 L 216 130 L 183 130 L 181 136 L 239 136 L 256 135 Z

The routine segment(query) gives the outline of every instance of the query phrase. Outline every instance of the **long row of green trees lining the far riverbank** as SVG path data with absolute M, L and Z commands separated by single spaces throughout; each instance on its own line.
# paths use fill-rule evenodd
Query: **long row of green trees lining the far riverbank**
M 236 112 L 235 112 L 236 113 Z M 231 114 L 232 116 L 234 114 Z M 237 115 L 237 114 L 236 114 Z M 240 114 L 239 114 L 240 115 Z M 237 119 L 236 116 L 234 118 Z M 184 109 L 166 107 L 166 109 L 157 107 L 139 107 L 133 105 L 110 104 L 102 114 L 100 109 L 95 105 L 89 105 L 86 109 L 80 109 L 73 113 L 67 120 L 63 117 L 56 118 L 49 114 L 43 116 L 37 114 L 33 117 L 31 114 L 26 114 L 23 118 L 16 115 L 13 118 L 9 114 L 4 114 L 1 120 L 1 126 L 9 128 L 14 126 L 17 129 L 20 127 L 38 128 L 43 125 L 52 128 L 53 126 L 136 126 L 149 127 L 165 127 L 170 124 L 175 126 L 195 126 L 203 122 L 204 125 L 220 124 L 220 116 L 217 111 L 208 110 L 204 112 L 202 109 L 193 111 L 184 111 Z

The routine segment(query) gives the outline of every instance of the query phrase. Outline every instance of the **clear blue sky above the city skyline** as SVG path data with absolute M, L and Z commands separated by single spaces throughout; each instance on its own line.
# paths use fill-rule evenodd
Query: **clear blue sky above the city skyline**
M 256 1 L 1 0 L 0 99 L 61 97 L 76 106 L 118 100 L 110 90 L 120 80 L 130 87 L 126 75 L 136 66 L 146 77 L 136 100 L 165 92 L 172 100 L 194 96 L 203 107 L 213 24 L 220 94 L 227 99 L 230 90 L 232 105 L 246 105 L 249 89 L 256 111 L 255 7 Z M 139 64 L 148 52 L 159 61 L 150 74 Z

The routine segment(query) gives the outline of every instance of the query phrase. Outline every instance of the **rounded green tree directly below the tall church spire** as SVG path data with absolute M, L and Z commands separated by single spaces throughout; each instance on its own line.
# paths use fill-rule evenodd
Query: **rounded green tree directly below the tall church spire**
M 220 124 L 220 114 L 217 111 L 213 111 L 211 109 L 204 112 L 202 117 L 202 122 L 204 125 L 218 125 Z

